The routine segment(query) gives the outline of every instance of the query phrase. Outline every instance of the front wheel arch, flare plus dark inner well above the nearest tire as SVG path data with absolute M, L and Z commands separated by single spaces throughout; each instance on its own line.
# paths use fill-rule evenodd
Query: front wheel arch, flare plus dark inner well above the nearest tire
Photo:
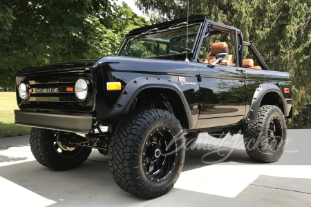
M 147 92 L 153 92 L 154 97 L 156 97 L 160 91 L 169 92 L 172 96 L 168 97 L 168 99 L 175 99 L 176 103 L 178 103 L 175 106 L 178 106 L 178 109 L 181 111 L 178 113 L 174 112 L 174 115 L 176 115 L 180 124 L 184 128 L 193 128 L 194 124 L 190 108 L 182 90 L 173 81 L 156 77 L 138 77 L 129 82 L 122 91 L 113 110 L 109 112 L 106 118 L 117 121 L 129 112 L 136 97 Z

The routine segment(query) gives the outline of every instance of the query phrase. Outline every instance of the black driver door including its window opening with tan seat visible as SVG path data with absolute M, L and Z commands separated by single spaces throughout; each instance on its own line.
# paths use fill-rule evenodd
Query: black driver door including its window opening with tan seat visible
M 241 124 L 245 117 L 245 70 L 236 67 L 234 34 L 214 31 L 203 39 L 200 50 L 200 112 L 197 128 Z M 230 50 L 231 49 L 231 50 Z M 216 61 L 227 53 L 228 61 Z

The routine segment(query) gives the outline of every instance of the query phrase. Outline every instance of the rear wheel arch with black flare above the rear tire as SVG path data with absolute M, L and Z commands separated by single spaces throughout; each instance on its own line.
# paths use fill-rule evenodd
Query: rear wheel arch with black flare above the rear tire
M 276 99 L 275 99 L 276 98 Z M 281 89 L 272 83 L 263 83 L 254 92 L 252 103 L 249 108 L 245 123 L 256 120 L 259 107 L 263 105 L 275 105 L 281 108 L 284 117 L 288 117 L 288 103 L 285 100 Z

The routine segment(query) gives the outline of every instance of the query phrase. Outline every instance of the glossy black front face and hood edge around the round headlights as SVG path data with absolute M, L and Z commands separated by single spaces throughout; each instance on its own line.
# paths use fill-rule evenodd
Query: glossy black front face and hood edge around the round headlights
M 16 77 L 17 92 L 20 83 L 26 83 L 27 90 L 33 91 L 28 92 L 28 99 L 25 100 L 21 100 L 17 93 L 19 108 L 92 112 L 94 110 L 93 95 L 82 103 L 75 96 L 75 92 L 66 91 L 66 88 L 75 88 L 77 79 L 84 77 L 91 81 L 90 90 L 92 91 L 93 70 L 88 66 L 92 66 L 94 62 L 93 60 L 68 61 L 21 70 Z M 48 91 L 49 89 L 56 89 L 56 91 Z

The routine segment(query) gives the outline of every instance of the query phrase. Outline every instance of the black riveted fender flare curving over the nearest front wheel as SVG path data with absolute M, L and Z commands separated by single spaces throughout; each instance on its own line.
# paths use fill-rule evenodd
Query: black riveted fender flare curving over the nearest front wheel
M 194 127 L 191 111 L 182 90 L 180 90 L 180 88 L 176 85 L 176 83 L 173 83 L 173 81 L 156 77 L 138 77 L 127 83 L 127 85 L 122 90 L 119 99 L 117 99 L 113 110 L 109 112 L 109 114 L 106 116 L 106 119 L 117 121 L 120 118 L 124 117 L 124 115 L 129 112 L 129 109 L 135 97 L 137 97 L 140 91 L 146 88 L 167 88 L 173 90 L 174 92 L 177 92 L 180 99 L 182 100 L 183 107 L 187 114 L 188 127 Z

